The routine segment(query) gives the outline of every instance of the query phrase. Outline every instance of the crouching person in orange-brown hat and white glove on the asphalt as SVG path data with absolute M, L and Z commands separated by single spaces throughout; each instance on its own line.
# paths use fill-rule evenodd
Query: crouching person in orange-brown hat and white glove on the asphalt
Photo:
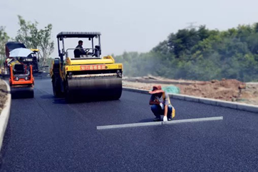
M 175 110 L 170 104 L 170 97 L 165 91 L 161 89 L 160 85 L 153 86 L 153 90 L 150 91 L 150 105 L 151 111 L 155 115 L 154 122 L 161 121 L 160 115 L 164 115 L 163 121 L 172 120 L 172 110 Z M 173 115 L 174 116 L 174 115 Z

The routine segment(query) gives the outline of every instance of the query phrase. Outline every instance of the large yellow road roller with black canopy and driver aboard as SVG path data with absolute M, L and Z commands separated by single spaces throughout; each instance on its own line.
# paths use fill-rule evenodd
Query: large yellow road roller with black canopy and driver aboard
M 78 46 L 66 49 L 66 38 L 78 38 Z M 83 38 L 91 48 L 82 47 Z M 50 71 L 55 97 L 65 97 L 67 102 L 120 98 L 123 65 L 110 55 L 100 57 L 100 33 L 61 32 L 57 39 L 59 58 L 53 60 Z

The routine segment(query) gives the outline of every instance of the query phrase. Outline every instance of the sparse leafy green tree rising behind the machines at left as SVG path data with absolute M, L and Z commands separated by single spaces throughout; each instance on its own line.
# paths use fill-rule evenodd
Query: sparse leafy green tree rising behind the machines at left
M 27 48 L 39 49 L 41 66 L 46 65 L 46 60 L 53 53 L 54 43 L 51 40 L 52 25 L 48 24 L 43 29 L 38 29 L 38 22 L 25 21 L 22 16 L 19 18 L 19 31 L 16 41 L 24 43 Z

